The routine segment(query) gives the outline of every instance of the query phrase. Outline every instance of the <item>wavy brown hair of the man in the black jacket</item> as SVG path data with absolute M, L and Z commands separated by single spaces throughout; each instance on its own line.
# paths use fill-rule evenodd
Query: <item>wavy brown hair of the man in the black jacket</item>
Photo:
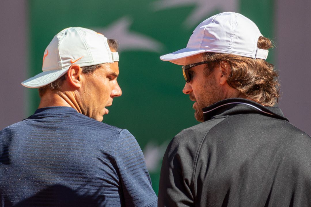
M 272 42 L 266 37 L 259 37 L 258 48 L 272 48 Z M 204 53 L 203 61 L 209 61 L 204 74 L 208 76 L 214 68 L 227 68 L 228 73 L 223 75 L 227 83 L 240 93 L 265 106 L 273 106 L 280 97 L 278 72 L 274 66 L 263 59 L 253 59 L 232 54 Z

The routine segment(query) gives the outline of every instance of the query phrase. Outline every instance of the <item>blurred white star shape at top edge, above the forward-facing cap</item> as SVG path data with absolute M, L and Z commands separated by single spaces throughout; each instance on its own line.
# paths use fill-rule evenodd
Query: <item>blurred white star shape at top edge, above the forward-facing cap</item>
M 174 7 L 184 7 L 195 4 L 194 11 L 190 14 L 182 14 L 188 16 L 183 24 L 190 28 L 199 24 L 212 11 L 238 11 L 238 0 L 160 0 L 153 3 L 156 11 Z

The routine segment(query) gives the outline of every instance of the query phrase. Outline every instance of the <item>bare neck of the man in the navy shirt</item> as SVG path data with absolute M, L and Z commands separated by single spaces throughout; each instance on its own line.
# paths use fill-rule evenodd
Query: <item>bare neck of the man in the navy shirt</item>
M 42 97 L 38 108 L 53 107 L 53 106 L 67 106 L 72 107 L 77 110 L 77 112 L 82 113 L 77 100 L 74 98 L 73 92 L 52 92 L 47 91 Z

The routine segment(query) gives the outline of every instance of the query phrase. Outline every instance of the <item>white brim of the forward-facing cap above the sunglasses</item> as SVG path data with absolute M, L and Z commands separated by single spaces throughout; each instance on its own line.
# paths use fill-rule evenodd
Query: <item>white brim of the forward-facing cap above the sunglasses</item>
M 169 61 L 177 65 L 186 65 L 186 58 L 197 55 L 200 53 L 204 53 L 206 50 L 202 49 L 192 49 L 192 48 L 183 48 L 181 50 L 177 50 L 174 53 L 169 53 L 166 55 L 162 55 L 160 57 L 163 61 Z

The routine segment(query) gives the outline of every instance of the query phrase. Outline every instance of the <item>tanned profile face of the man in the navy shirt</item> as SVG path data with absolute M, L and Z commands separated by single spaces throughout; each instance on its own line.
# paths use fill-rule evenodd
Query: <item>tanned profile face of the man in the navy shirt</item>
M 93 73 L 83 74 L 85 83 L 81 100 L 86 107 L 86 116 L 101 122 L 104 114 L 108 114 L 107 107 L 112 105 L 113 98 L 122 94 L 118 75 L 118 62 L 105 63 Z

